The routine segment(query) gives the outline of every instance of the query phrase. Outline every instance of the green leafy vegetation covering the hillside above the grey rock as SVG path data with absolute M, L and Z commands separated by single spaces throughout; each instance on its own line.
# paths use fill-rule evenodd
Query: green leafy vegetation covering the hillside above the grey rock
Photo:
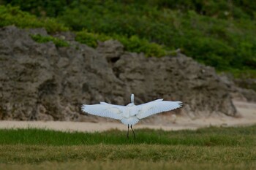
M 40 18 L 56 18 L 78 31 L 77 40 L 91 47 L 97 46 L 97 40 L 118 39 L 126 50 L 157 57 L 180 48 L 182 53 L 214 66 L 218 72 L 256 76 L 255 1 L 4 0 L 2 3 L 19 6 Z

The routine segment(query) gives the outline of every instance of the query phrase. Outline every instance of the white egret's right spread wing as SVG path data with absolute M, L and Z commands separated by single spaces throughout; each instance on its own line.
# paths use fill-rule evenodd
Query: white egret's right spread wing
M 140 107 L 140 111 L 138 112 L 139 119 L 143 119 L 145 117 L 160 113 L 167 112 L 172 109 L 177 109 L 182 106 L 181 101 L 162 101 L 162 99 L 157 99 L 155 101 L 148 102 L 146 104 L 140 104 L 137 107 Z

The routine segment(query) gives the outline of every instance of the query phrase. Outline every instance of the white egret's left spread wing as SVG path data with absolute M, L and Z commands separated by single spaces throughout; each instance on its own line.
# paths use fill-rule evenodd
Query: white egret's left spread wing
M 109 117 L 117 120 L 121 120 L 121 112 L 124 106 L 107 104 L 100 102 L 100 104 L 83 104 L 82 111 L 87 112 L 91 115 L 97 115 L 101 117 Z

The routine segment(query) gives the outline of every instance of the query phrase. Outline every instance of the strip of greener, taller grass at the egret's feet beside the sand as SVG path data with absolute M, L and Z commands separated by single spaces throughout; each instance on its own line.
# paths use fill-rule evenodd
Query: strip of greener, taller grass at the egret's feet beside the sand
M 1 130 L 0 144 L 83 145 L 83 144 L 170 144 L 186 146 L 255 146 L 256 125 L 246 128 L 203 128 L 197 131 L 136 130 L 137 139 L 124 131 L 68 133 L 39 129 Z

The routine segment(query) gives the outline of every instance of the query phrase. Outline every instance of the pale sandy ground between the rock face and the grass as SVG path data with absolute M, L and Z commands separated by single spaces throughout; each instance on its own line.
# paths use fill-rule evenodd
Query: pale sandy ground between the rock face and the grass
M 176 131 L 181 129 L 192 129 L 214 126 L 237 126 L 237 125 L 253 125 L 256 124 L 256 103 L 248 103 L 244 101 L 234 101 L 241 117 L 206 117 L 195 120 L 189 117 L 176 117 L 175 123 L 172 121 L 167 125 L 134 125 L 134 128 L 162 128 L 165 131 Z M 59 121 L 0 121 L 0 128 L 47 128 L 58 131 L 106 131 L 117 128 L 127 130 L 127 126 L 122 123 L 83 123 L 83 122 L 59 122 Z

